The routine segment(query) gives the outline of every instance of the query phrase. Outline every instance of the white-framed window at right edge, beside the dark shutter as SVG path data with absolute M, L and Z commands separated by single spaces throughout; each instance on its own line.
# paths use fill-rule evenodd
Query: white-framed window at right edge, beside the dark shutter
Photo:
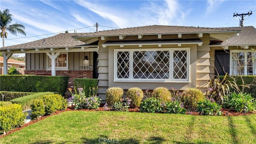
M 256 75 L 256 52 L 230 51 L 231 75 Z

